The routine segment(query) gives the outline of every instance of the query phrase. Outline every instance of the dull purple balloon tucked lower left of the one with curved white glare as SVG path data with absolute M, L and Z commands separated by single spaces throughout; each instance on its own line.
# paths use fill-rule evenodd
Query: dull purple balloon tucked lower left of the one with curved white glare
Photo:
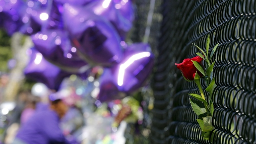
M 113 79 L 114 73 L 111 69 L 105 68 L 100 77 L 100 93 L 98 100 L 107 102 L 115 99 L 122 99 L 127 95 L 118 89 L 116 81 Z

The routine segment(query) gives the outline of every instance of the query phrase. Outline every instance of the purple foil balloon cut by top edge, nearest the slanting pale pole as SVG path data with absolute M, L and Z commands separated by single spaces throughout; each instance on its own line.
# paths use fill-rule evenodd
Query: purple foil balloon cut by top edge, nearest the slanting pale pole
M 132 28 L 134 13 L 132 2 L 129 0 L 95 0 L 86 8 L 109 20 L 122 39 L 125 39 L 127 32 Z

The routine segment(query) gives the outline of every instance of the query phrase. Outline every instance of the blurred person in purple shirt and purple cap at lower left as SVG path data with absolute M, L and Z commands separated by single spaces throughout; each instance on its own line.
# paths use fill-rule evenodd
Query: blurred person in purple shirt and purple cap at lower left
M 73 138 L 66 139 L 59 127 L 69 106 L 56 93 L 50 94 L 49 99 L 50 104 L 44 110 L 36 110 L 21 126 L 12 144 L 78 144 Z

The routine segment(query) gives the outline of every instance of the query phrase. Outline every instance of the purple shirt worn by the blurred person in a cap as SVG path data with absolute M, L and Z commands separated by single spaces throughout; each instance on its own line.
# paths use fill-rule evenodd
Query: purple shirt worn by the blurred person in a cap
M 36 111 L 21 126 L 16 138 L 27 144 L 71 144 L 59 128 L 59 117 L 55 111 Z

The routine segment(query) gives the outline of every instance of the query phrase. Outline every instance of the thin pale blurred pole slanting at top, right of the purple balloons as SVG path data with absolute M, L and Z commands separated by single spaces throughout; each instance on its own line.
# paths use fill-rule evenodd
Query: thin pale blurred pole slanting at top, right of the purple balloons
M 149 13 L 147 15 L 147 27 L 146 27 L 145 35 L 143 38 L 144 43 L 148 43 L 148 41 L 149 41 L 150 28 L 152 25 L 155 3 L 156 3 L 156 0 L 150 0 Z

